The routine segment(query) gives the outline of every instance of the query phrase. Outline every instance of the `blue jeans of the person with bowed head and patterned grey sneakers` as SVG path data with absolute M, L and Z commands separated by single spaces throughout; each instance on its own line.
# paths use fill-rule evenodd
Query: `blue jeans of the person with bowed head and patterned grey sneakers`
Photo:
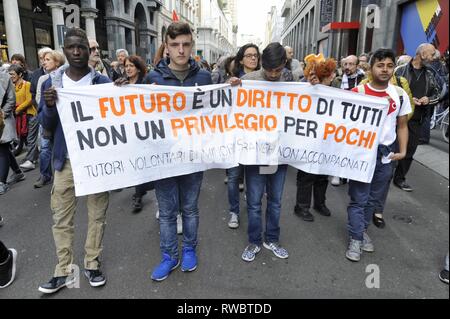
M 248 241 L 262 245 L 262 198 L 267 191 L 266 231 L 264 240 L 278 243 L 280 239 L 281 198 L 287 165 L 280 165 L 275 174 L 260 174 L 260 166 L 245 166 L 247 184 Z

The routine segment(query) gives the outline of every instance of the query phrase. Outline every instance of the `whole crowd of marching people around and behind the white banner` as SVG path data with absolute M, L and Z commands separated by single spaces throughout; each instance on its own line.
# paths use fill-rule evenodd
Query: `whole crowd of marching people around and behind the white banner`
M 69 29 L 64 38 L 63 53 L 39 50 L 41 66 L 27 70 L 23 56 L 11 57 L 11 65 L 0 72 L 0 195 L 14 183 L 23 181 L 26 171 L 39 163 L 40 177 L 35 188 L 53 184 L 51 209 L 53 237 L 58 264 L 48 282 L 39 286 L 43 293 L 55 293 L 74 282 L 73 219 L 76 197 L 73 170 L 67 151 L 61 121 L 56 108 L 56 88 L 80 87 L 114 82 L 115 85 L 156 84 L 162 86 L 202 86 L 242 80 L 269 82 L 305 82 L 349 90 L 387 99 L 389 115 L 382 128 L 377 151 L 376 169 L 371 183 L 346 181 L 339 177 L 314 175 L 299 170 L 294 213 L 305 222 L 313 222 L 311 207 L 323 216 L 331 216 L 326 192 L 333 186 L 348 183 L 347 259 L 358 262 L 363 252 L 374 252 L 369 226 L 385 227 L 383 212 L 391 181 L 403 191 L 413 188 L 407 183 L 414 153 L 419 144 L 429 142 L 429 122 L 433 108 L 448 107 L 448 52 L 441 57 L 431 44 L 422 44 L 414 57 L 396 57 L 389 49 L 378 49 L 359 57 L 350 55 L 339 63 L 322 54 L 308 55 L 300 62 L 295 52 L 280 43 L 269 44 L 262 52 L 254 44 L 242 46 L 235 56 L 221 57 L 210 66 L 192 57 L 193 36 L 189 25 L 176 22 L 169 26 L 165 43 L 158 50 L 152 66 L 124 49 L 117 50 L 117 61 L 102 59 L 94 39 L 78 28 Z M 424 133 L 428 130 L 428 134 Z M 27 154 L 18 163 L 11 142 L 26 132 Z M 11 171 L 11 173 L 10 173 Z M 228 226 L 240 226 L 240 192 L 246 192 L 248 243 L 242 259 L 255 260 L 262 248 L 286 259 L 288 250 L 280 241 L 280 216 L 287 166 L 266 174 L 260 166 L 239 165 L 226 171 L 230 218 Z M 8 178 L 9 176 L 9 178 Z M 158 200 L 161 262 L 151 278 L 165 280 L 181 267 L 192 272 L 198 267 L 196 248 L 203 172 L 152 181 L 135 187 L 131 199 L 134 213 L 143 209 L 142 197 L 155 190 Z M 262 202 L 267 198 L 265 227 Z M 311 205 L 313 203 L 313 205 Z M 106 283 L 100 255 L 106 225 L 109 193 L 87 197 L 88 231 L 85 244 L 84 274 L 92 287 Z M 3 219 L 0 217 L 0 225 Z M 263 232 L 263 229 L 265 231 Z M 183 234 L 181 254 L 177 234 Z M 180 256 L 181 255 L 181 256 Z M 14 279 L 17 252 L 0 242 L 0 288 Z M 448 283 L 448 256 L 440 278 Z

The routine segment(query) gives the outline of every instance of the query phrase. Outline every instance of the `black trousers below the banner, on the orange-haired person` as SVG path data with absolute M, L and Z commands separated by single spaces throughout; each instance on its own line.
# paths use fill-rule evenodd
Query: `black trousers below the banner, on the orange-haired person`
M 314 175 L 299 170 L 297 173 L 297 206 L 310 208 L 313 194 L 314 206 L 325 205 L 327 187 L 327 175 Z

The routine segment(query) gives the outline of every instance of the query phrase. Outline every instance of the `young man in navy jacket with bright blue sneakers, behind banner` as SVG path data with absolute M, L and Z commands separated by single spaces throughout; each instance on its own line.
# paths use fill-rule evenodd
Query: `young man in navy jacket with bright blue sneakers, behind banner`
M 193 48 L 192 31 L 188 24 L 175 22 L 167 29 L 165 45 L 170 59 L 163 59 L 146 83 L 169 86 L 202 86 L 212 84 L 211 74 L 201 70 L 190 57 Z M 177 214 L 183 218 L 183 251 L 181 270 L 197 268 L 197 230 L 199 222 L 198 198 L 203 172 L 171 177 L 155 182 L 159 204 L 160 246 L 162 260 L 154 269 L 152 279 L 163 281 L 179 262 Z

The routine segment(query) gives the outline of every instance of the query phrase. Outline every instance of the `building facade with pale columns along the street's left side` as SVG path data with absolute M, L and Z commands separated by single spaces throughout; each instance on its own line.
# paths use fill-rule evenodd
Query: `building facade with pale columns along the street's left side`
M 61 48 L 64 29 L 77 26 L 103 56 L 124 48 L 151 63 L 174 14 L 195 30 L 195 13 L 195 0 L 0 0 L 1 59 L 21 53 L 35 68 L 37 50 Z

